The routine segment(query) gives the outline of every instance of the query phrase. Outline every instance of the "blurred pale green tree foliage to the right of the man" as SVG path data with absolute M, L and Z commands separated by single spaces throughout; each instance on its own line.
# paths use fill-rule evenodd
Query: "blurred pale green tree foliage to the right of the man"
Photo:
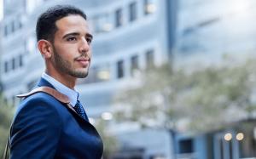
M 116 95 L 117 121 L 209 131 L 251 117 L 256 108 L 254 61 L 196 71 L 170 65 L 146 71 L 137 87 Z

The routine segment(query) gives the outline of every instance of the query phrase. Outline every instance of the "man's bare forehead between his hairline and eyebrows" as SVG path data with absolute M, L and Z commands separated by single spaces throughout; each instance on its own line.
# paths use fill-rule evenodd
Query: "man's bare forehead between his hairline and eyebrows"
M 57 32 L 64 34 L 72 31 L 84 31 L 84 33 L 89 31 L 87 21 L 80 15 L 68 15 L 57 20 L 55 25 Z

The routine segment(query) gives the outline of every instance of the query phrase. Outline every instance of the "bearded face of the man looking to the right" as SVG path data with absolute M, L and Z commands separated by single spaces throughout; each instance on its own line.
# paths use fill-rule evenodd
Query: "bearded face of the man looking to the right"
M 92 36 L 86 20 L 80 15 L 69 15 L 55 25 L 54 54 L 51 59 L 55 70 L 62 75 L 83 78 L 90 66 Z

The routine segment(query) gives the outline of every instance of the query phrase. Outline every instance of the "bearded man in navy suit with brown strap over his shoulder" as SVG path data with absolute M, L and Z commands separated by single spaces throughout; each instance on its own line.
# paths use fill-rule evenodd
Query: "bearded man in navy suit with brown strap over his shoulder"
M 102 139 L 74 89 L 90 66 L 86 15 L 72 6 L 50 8 L 38 18 L 37 38 L 46 69 L 34 91 L 20 95 L 25 99 L 11 128 L 10 157 L 100 159 Z M 38 91 L 42 87 L 54 89 Z

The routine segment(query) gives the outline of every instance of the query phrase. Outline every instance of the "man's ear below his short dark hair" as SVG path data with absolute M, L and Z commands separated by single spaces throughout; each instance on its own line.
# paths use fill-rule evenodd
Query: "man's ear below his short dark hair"
M 40 53 L 43 55 L 44 59 L 49 59 L 53 54 L 52 45 L 47 40 L 39 40 L 38 49 Z

